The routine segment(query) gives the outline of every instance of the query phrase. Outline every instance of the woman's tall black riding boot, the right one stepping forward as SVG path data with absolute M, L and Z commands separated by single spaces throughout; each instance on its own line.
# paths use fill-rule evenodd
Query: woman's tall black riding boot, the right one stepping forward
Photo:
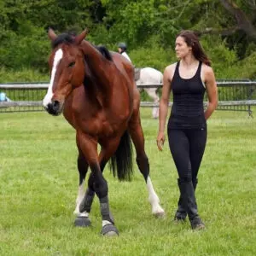
M 181 197 L 183 198 L 182 206 L 186 210 L 186 212 L 188 212 L 191 228 L 193 230 L 204 229 L 205 224 L 203 224 L 203 222 L 201 221 L 195 204 L 195 191 L 193 183 L 191 181 L 179 183 L 179 188 Z

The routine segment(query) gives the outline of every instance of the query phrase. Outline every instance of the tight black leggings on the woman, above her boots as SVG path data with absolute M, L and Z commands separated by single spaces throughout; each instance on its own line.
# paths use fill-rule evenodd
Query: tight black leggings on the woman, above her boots
M 181 182 L 195 180 L 207 143 L 207 128 L 168 129 L 169 147 Z

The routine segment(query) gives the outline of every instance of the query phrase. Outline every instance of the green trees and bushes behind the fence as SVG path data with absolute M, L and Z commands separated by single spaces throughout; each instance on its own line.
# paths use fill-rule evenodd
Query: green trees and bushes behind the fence
M 88 27 L 91 43 L 116 50 L 125 41 L 137 67 L 162 71 L 175 61 L 177 32 L 191 29 L 219 76 L 256 78 L 255 0 L 0 0 L 0 13 L 5 70 L 47 73 L 48 28 L 59 33 Z

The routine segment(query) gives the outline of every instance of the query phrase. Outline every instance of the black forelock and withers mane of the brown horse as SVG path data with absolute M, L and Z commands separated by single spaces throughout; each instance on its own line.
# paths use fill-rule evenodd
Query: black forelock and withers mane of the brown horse
M 75 34 L 73 32 L 62 33 L 57 38 L 55 38 L 51 44 L 51 47 L 55 49 L 55 47 L 57 47 L 59 44 L 73 44 L 74 37 Z M 108 61 L 113 61 L 112 55 L 105 46 L 96 46 L 94 44 L 91 45 L 97 49 Z

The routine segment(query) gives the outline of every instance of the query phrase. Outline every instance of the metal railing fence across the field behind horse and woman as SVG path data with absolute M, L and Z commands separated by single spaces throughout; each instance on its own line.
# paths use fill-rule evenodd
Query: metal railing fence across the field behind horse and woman
M 252 106 L 256 105 L 256 81 L 218 80 L 217 84 L 219 110 L 246 111 L 252 116 Z M 49 83 L 0 84 L 0 92 L 8 97 L 7 101 L 0 102 L 0 112 L 43 111 L 42 100 L 48 86 Z M 137 84 L 137 87 L 160 89 L 162 84 Z M 158 103 L 141 102 L 141 106 L 154 107 Z

